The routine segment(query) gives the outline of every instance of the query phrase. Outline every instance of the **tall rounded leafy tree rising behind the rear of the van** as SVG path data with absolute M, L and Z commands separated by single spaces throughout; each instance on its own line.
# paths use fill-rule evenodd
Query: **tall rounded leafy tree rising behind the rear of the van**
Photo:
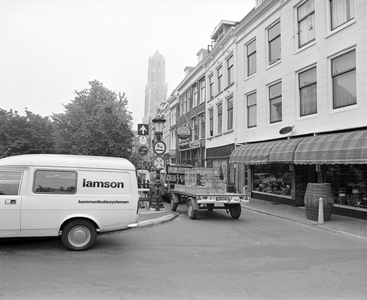
M 132 116 L 125 93 L 116 95 L 97 80 L 65 105 L 65 113 L 53 114 L 56 151 L 130 158 Z

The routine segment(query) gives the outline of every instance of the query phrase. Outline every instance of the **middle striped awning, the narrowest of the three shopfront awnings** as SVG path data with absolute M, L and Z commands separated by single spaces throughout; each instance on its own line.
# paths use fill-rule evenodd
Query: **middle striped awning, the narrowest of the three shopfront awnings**
M 277 142 L 270 151 L 269 163 L 293 164 L 294 151 L 303 138 Z

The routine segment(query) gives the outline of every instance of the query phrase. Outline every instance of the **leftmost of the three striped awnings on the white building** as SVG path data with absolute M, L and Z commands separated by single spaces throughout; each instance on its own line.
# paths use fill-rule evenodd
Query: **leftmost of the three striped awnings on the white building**
M 240 146 L 233 150 L 229 163 L 261 165 L 269 163 L 270 151 L 277 142 Z

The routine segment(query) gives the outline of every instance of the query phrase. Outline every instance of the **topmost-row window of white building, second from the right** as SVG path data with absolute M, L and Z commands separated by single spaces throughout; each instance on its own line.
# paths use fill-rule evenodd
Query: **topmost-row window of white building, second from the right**
M 299 48 L 315 40 L 315 2 L 309 0 L 297 8 Z

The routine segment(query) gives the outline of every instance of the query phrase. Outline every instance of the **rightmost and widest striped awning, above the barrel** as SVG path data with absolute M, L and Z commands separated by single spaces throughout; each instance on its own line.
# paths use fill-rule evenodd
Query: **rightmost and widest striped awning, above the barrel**
M 305 138 L 295 164 L 367 164 L 367 130 Z

